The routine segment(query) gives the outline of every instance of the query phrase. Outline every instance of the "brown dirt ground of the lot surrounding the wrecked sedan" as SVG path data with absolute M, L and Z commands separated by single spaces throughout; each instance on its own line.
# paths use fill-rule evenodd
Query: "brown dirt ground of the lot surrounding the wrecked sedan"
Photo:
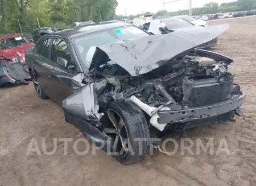
M 57 142 L 54 155 L 26 155 L 32 138 L 42 151 L 46 138 L 48 151 L 53 138 L 85 138 L 80 131 L 64 121 L 63 110 L 51 100 L 40 100 L 30 85 L 20 85 L 0 90 L 0 185 L 256 185 L 256 17 L 210 22 L 229 23 L 229 30 L 220 37 L 214 51 L 233 57 L 230 70 L 235 81 L 247 93 L 243 105 L 244 118 L 229 125 L 211 125 L 189 130 L 180 138 L 214 139 L 214 155 L 201 152 L 194 155 L 180 148 L 173 156 L 156 153 L 141 162 L 122 166 L 104 151 L 92 150 L 77 155 L 73 143 L 68 142 L 67 155 L 64 143 Z M 218 144 L 224 138 L 230 155 L 216 155 Z M 78 149 L 84 150 L 79 143 Z M 172 143 L 167 144 L 172 150 Z

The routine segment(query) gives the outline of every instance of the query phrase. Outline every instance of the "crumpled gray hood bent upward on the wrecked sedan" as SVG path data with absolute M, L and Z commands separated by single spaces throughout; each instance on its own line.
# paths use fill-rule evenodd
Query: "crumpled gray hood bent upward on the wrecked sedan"
M 228 28 L 228 24 L 195 26 L 166 35 L 150 35 L 104 44 L 96 48 L 90 69 L 108 55 L 109 59 L 126 69 L 131 76 L 142 75 L 217 38 Z

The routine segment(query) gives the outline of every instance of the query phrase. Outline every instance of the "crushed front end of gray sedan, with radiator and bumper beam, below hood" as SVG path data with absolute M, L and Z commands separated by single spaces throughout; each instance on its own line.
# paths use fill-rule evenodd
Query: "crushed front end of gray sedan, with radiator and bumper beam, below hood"
M 228 72 L 230 63 L 233 60 L 229 57 L 195 49 L 143 75 L 117 76 L 115 90 L 105 90 L 99 105 L 112 99 L 137 105 L 160 131 L 228 123 L 234 121 L 234 114 L 241 115 L 240 106 L 246 100 L 240 86 L 234 84 L 234 75 Z M 101 84 L 102 80 L 96 83 Z

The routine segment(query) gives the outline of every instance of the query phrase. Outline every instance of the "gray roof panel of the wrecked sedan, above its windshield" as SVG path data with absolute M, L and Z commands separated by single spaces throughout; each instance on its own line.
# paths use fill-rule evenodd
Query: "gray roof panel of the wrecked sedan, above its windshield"
M 74 38 L 76 36 L 89 34 L 109 28 L 131 26 L 131 24 L 125 22 L 101 22 L 97 24 L 88 24 L 84 26 L 77 26 L 69 29 L 64 29 L 51 33 L 51 35 L 62 36 L 63 38 Z

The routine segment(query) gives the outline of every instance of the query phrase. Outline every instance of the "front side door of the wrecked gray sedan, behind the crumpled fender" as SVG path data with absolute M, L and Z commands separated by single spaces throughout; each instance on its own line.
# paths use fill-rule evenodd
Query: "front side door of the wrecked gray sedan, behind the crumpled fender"
M 57 103 L 62 105 L 62 101 L 67 98 L 71 92 L 72 77 L 77 74 L 73 68 L 73 60 L 67 42 L 63 38 L 52 38 L 51 60 L 48 63 L 47 96 L 51 97 Z M 69 69 L 61 67 L 57 63 L 58 57 L 68 61 Z

